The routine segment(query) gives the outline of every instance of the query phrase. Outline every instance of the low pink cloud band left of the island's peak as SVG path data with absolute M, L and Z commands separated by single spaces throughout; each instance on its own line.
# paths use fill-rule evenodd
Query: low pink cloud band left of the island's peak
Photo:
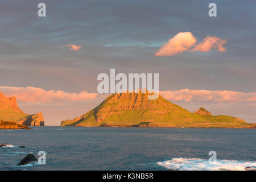
M 81 101 L 81 100 L 93 100 L 97 97 L 98 93 L 88 93 L 82 91 L 80 93 L 67 93 L 62 90 L 44 90 L 42 88 L 35 87 L 10 87 L 1 86 L 1 92 L 5 96 L 15 96 L 17 100 L 23 102 L 42 102 L 51 103 L 58 101 Z

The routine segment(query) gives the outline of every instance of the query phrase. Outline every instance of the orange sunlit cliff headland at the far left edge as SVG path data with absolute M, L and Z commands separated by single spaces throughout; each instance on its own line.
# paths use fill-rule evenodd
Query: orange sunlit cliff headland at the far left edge
M 0 121 L 14 121 L 19 125 L 44 126 L 42 113 L 25 114 L 19 109 L 15 97 L 5 97 L 0 92 Z

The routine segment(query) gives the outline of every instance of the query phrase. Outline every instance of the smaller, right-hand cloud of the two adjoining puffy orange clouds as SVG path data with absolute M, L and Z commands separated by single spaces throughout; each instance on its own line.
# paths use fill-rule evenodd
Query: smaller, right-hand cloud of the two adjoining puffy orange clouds
M 223 47 L 224 44 L 226 44 L 226 40 L 216 38 L 216 36 L 207 36 L 193 48 L 193 51 L 209 52 L 212 48 L 215 48 L 218 51 L 224 52 L 226 51 L 226 48 Z

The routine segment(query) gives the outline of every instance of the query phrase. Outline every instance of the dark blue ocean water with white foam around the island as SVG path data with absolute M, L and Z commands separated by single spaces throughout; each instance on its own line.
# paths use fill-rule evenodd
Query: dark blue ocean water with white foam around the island
M 0 170 L 244 170 L 256 166 L 255 129 L 32 127 L 0 130 Z M 26 148 L 19 148 L 25 146 Z M 46 164 L 17 164 L 46 152 Z M 216 162 L 209 163 L 209 151 Z

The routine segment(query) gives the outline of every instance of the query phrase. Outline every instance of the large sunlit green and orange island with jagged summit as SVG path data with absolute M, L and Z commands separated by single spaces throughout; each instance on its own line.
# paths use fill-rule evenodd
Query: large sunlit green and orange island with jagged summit
M 206 111 L 206 110 L 205 110 Z M 148 100 L 148 93 L 115 93 L 100 105 L 61 126 L 112 127 L 251 127 L 239 118 L 190 113 L 159 96 Z

